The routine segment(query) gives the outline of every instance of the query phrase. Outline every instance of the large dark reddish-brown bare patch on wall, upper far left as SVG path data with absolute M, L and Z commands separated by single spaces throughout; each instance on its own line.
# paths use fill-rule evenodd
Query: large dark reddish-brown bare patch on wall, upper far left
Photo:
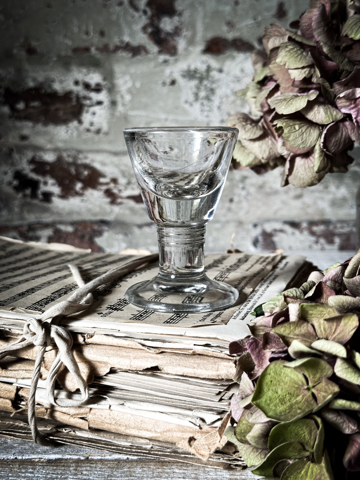
M 83 104 L 73 92 L 58 94 L 45 92 L 42 88 L 28 88 L 16 92 L 5 88 L 4 103 L 9 106 L 12 117 L 48 125 L 81 121 Z

